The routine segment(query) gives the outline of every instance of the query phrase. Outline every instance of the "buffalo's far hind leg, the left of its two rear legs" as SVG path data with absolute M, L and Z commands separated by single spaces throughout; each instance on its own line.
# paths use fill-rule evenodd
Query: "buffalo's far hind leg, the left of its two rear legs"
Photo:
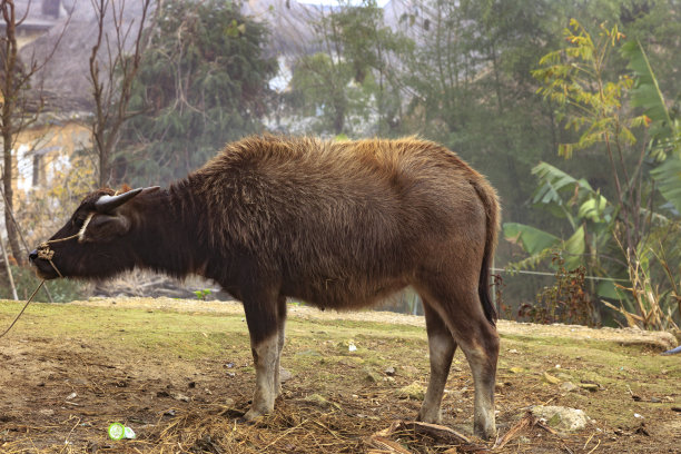
M 418 421 L 440 424 L 442 421 L 441 405 L 456 343 L 450 328 L 427 300 L 423 302 L 426 330 L 428 333 L 428 351 L 431 361 L 431 378 L 425 398 L 418 412 Z

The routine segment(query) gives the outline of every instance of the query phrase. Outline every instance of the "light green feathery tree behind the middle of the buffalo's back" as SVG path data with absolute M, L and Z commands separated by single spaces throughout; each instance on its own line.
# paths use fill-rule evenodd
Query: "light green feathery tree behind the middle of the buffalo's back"
M 314 28 L 319 50 L 294 65 L 288 96 L 294 111 L 316 117 L 319 132 L 397 134 L 398 57 L 413 48 L 413 41 L 384 24 L 375 0 L 322 10 Z

